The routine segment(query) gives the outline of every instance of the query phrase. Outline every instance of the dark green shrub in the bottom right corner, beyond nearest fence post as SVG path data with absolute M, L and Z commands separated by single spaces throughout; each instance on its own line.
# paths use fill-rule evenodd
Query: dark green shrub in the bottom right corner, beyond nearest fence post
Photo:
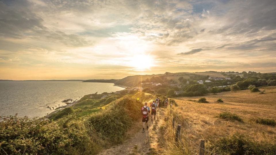
M 275 154 L 275 141 L 257 141 L 248 135 L 234 134 L 229 137 L 219 138 L 216 142 L 207 146 L 206 149 L 215 154 Z

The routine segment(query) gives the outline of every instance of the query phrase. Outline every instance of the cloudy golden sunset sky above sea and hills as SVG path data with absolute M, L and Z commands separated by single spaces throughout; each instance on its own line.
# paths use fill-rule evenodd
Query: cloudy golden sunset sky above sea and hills
M 0 79 L 276 71 L 275 0 L 0 0 Z

